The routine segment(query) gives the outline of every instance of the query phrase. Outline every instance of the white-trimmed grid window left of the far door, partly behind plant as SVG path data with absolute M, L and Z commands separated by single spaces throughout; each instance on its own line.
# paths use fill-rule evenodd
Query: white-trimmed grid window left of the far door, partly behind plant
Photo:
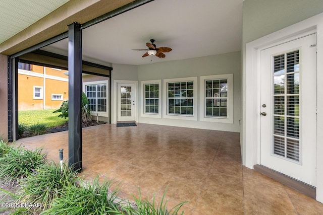
M 107 81 L 85 82 L 83 89 L 89 101 L 92 114 L 107 117 L 109 108 Z

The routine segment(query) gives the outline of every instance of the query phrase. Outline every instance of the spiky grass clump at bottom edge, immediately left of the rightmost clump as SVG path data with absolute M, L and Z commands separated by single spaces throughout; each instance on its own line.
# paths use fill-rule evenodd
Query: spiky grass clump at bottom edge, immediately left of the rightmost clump
M 109 193 L 112 184 L 104 181 L 100 185 L 98 177 L 92 184 L 84 181 L 80 181 L 80 187 L 70 184 L 42 214 L 124 214 L 118 206 L 118 191 Z

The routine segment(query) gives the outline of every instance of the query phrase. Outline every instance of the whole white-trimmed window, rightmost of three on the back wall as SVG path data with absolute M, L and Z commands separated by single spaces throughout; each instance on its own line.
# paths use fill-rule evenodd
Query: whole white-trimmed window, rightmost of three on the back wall
M 201 121 L 233 123 L 233 74 L 201 76 Z

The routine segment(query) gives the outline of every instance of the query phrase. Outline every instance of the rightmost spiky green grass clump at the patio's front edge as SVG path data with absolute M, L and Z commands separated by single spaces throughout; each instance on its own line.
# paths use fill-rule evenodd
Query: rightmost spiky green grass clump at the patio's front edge
M 168 210 L 167 202 L 169 200 L 165 200 L 166 196 L 166 191 L 167 188 L 164 191 L 163 197 L 161 198 L 160 204 L 155 202 L 155 194 L 152 197 L 152 201 L 150 202 L 149 199 L 142 199 L 141 198 L 141 193 L 140 193 L 140 188 L 139 190 L 139 198 L 133 196 L 135 200 L 135 206 L 128 204 L 124 206 L 125 209 L 127 209 L 129 215 L 137 215 L 137 214 L 147 214 L 147 215 L 177 215 L 183 204 L 186 202 L 181 202 Z M 184 214 L 184 210 L 182 211 L 181 214 Z

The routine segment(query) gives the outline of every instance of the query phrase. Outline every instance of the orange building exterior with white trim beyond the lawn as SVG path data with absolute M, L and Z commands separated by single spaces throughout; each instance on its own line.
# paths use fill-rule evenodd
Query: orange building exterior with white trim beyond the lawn
M 67 70 L 19 63 L 18 110 L 58 109 L 68 100 Z

